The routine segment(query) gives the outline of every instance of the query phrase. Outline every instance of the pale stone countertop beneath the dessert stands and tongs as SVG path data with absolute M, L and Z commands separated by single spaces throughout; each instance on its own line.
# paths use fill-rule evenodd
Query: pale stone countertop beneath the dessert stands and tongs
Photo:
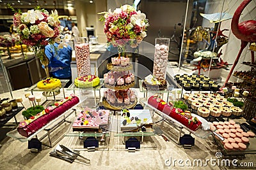
M 24 90 L 26 89 L 13 91 L 13 97 L 22 97 L 24 99 L 23 104 L 25 108 L 29 108 L 29 101 L 24 97 L 24 94 L 28 92 L 25 92 Z M 73 90 L 64 90 L 65 96 L 73 93 Z M 140 89 L 133 90 L 136 91 L 138 103 L 143 101 L 144 93 L 140 92 Z M 100 92 L 104 92 L 104 89 Z M 79 94 L 79 92 L 76 92 L 76 94 Z M 34 95 L 42 96 L 42 92 L 34 92 Z M 101 96 L 103 96 L 103 94 L 101 94 Z M 10 93 L 0 94 L 0 98 L 3 97 L 10 97 Z M 56 100 L 58 99 L 63 99 L 62 93 L 56 96 Z M 120 114 L 116 113 L 112 116 L 120 117 Z M 74 121 L 76 115 L 72 114 L 69 118 L 70 121 Z M 17 121 L 20 122 L 22 120 L 23 117 L 21 113 L 17 114 Z M 115 118 L 113 120 L 113 124 L 117 125 Z M 152 117 L 152 120 L 153 122 L 156 122 L 159 118 L 155 115 Z M 236 120 L 236 122 L 243 121 L 243 118 Z M 13 120 L 10 120 L 10 122 L 13 122 Z M 58 138 L 60 135 L 67 134 L 70 131 L 70 124 L 62 124 L 60 129 L 60 131 L 52 132 L 53 139 L 55 137 Z M 91 163 L 89 166 L 78 162 L 70 163 L 65 160 L 51 157 L 49 153 L 54 150 L 56 145 L 52 148 L 42 146 L 42 151 L 40 153 L 31 153 L 28 150 L 28 142 L 21 142 L 17 139 L 8 137 L 3 143 L 1 143 L 0 169 L 232 169 L 232 166 L 214 166 L 214 164 L 210 163 L 207 164 L 206 167 L 188 167 L 184 162 L 182 163 L 183 167 L 180 167 L 177 162 L 173 164 L 173 160 L 177 161 L 179 159 L 184 161 L 191 160 L 192 164 L 193 160 L 202 159 L 203 163 L 205 163 L 206 159 L 216 159 L 216 152 L 219 152 L 220 150 L 212 136 L 202 139 L 198 138 L 194 134 L 191 134 L 191 136 L 195 138 L 195 146 L 191 149 L 184 149 L 173 141 L 166 141 L 164 136 L 162 136 L 163 133 L 160 129 L 162 129 L 162 131 L 173 131 L 173 129 L 170 129 L 170 126 L 165 122 L 154 124 L 152 127 L 154 134 L 144 136 L 141 149 L 132 153 L 127 152 L 124 144 L 122 144 L 124 136 L 120 136 L 116 131 L 109 132 L 108 136 L 106 136 L 105 145 L 100 146 L 99 150 L 96 150 L 95 152 L 88 152 L 83 149 L 80 150 L 80 155 L 90 159 Z M 77 136 L 72 135 L 66 135 L 58 142 L 58 144 L 65 145 L 68 148 L 83 148 L 83 141 L 79 141 Z M 255 167 L 255 154 L 245 155 L 244 157 L 230 157 L 230 160 L 235 158 L 238 159 L 239 162 L 253 162 Z M 172 164 L 170 164 L 170 161 Z

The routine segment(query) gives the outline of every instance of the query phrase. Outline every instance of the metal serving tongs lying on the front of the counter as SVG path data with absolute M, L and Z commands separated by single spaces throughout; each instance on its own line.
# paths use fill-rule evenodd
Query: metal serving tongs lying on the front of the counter
M 90 159 L 87 159 L 86 157 L 83 157 L 79 153 L 73 152 L 69 148 L 67 148 L 64 145 L 58 145 L 56 146 L 56 154 L 65 159 L 72 159 L 72 160 L 78 160 L 79 162 L 82 162 L 84 164 L 90 164 Z

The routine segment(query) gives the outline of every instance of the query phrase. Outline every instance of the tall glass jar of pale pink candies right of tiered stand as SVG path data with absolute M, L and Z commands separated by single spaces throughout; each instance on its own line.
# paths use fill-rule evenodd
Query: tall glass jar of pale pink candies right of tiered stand
M 166 78 L 170 38 L 156 38 L 153 75 L 159 79 Z

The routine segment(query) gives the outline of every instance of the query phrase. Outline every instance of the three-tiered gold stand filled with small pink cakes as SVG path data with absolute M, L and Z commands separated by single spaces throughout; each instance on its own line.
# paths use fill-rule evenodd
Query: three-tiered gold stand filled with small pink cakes
M 129 58 L 112 57 L 107 67 L 109 72 L 104 74 L 104 85 L 108 90 L 104 92 L 104 106 L 113 110 L 132 108 L 137 103 L 137 97 L 129 89 L 134 86 L 134 74 L 129 71 L 132 69 Z

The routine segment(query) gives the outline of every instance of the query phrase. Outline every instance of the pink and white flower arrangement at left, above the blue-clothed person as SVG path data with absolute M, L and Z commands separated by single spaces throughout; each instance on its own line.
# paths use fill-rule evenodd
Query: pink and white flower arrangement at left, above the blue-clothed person
M 38 58 L 42 59 L 44 47 L 60 40 L 63 27 L 60 25 L 58 12 L 55 10 L 50 14 L 47 10 L 37 6 L 35 10 L 22 13 L 21 10 L 15 11 L 10 5 L 8 7 L 15 12 L 13 25 L 20 36 L 20 41 L 31 46 Z

